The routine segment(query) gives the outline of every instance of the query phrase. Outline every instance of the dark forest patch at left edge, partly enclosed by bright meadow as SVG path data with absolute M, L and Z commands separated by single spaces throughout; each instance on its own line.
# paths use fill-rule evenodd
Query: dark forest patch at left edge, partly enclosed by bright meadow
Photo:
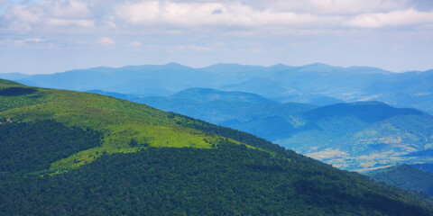
M 96 132 L 68 128 L 56 121 L 5 122 L 0 125 L 0 172 L 49 169 L 56 160 L 100 144 Z

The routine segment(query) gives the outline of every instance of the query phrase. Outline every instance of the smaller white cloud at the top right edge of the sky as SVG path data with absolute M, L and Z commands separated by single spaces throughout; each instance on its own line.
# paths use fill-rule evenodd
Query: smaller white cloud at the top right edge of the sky
M 345 22 L 351 27 L 380 28 L 433 23 L 433 11 L 419 12 L 413 8 L 390 13 L 361 14 Z

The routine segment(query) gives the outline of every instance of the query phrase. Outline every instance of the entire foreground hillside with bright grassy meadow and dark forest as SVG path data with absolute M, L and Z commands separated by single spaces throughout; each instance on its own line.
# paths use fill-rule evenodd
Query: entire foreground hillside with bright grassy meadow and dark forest
M 30 88 L 0 80 L 12 87 Z M 0 95 L 2 215 L 433 214 L 428 199 L 238 130 L 31 89 Z

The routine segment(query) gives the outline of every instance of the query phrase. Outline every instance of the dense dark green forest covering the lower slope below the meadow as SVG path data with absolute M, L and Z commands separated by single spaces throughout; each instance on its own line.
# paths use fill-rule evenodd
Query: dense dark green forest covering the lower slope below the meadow
M 3 215 L 431 215 L 427 202 L 307 157 L 230 142 L 104 156 L 62 175 L 2 175 Z

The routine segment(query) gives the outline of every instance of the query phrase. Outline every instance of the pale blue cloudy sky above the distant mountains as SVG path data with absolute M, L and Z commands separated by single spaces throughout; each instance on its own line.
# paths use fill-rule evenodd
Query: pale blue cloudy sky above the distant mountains
M 169 62 L 433 69 L 433 0 L 0 0 L 0 73 Z

